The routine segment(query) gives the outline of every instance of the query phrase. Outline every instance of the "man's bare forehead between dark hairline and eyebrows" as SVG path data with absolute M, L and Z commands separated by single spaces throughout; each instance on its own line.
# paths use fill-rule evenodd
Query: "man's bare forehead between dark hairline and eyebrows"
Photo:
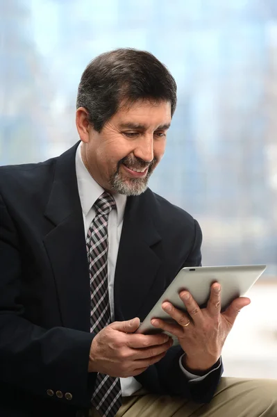
M 169 101 L 139 100 L 133 104 L 122 105 L 112 117 L 117 124 L 141 124 L 144 126 L 168 125 L 171 122 L 171 103 Z

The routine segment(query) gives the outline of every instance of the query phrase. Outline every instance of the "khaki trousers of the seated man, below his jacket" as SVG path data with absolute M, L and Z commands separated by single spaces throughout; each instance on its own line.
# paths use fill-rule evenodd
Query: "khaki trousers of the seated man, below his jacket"
M 124 397 L 116 417 L 277 417 L 277 380 L 223 377 L 209 404 L 140 389 Z M 99 413 L 92 410 L 92 417 Z

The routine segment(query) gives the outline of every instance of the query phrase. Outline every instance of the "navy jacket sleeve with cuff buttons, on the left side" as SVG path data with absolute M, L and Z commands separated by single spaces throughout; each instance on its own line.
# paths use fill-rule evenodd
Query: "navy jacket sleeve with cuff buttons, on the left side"
M 67 404 L 72 396 L 71 404 L 87 407 L 96 377 L 87 373 L 93 335 L 63 327 L 43 329 L 24 318 L 19 245 L 0 196 L 0 382 L 42 398 L 50 393 L 53 401 Z

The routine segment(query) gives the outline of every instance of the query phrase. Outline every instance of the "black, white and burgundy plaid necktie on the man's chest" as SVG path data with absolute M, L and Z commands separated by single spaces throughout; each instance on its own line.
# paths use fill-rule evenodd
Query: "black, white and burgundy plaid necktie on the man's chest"
M 90 332 L 98 333 L 111 322 L 108 295 L 108 215 L 116 208 L 112 195 L 104 192 L 94 203 L 96 215 L 87 232 L 90 268 Z M 121 406 L 119 377 L 98 373 L 92 405 L 103 417 L 114 417 Z

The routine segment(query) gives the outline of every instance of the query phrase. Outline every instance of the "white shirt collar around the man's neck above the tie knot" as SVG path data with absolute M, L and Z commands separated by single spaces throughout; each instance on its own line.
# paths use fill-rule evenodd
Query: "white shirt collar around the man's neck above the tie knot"
M 87 171 L 81 156 L 81 145 L 82 142 L 78 145 L 75 163 L 78 193 L 80 196 L 82 211 L 86 216 L 90 211 L 90 208 L 92 208 L 93 204 L 96 202 L 96 199 L 98 199 L 104 192 L 104 189 L 99 186 L 99 183 L 97 183 L 90 175 L 90 172 Z M 112 197 L 114 197 L 115 204 L 117 206 L 117 226 L 119 226 L 119 224 L 123 221 L 127 197 L 126 195 L 119 193 L 112 194 Z

